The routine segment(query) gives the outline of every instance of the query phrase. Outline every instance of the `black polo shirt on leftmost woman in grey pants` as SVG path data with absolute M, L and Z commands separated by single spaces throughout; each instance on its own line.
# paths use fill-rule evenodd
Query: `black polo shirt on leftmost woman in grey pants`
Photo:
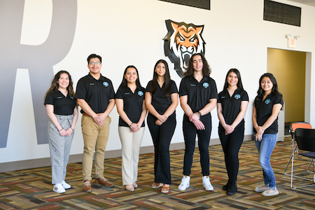
M 69 94 L 65 97 L 59 90 L 48 92 L 44 104 L 53 105 L 54 113 L 60 116 L 72 115 L 76 107 L 76 101 L 73 97 Z

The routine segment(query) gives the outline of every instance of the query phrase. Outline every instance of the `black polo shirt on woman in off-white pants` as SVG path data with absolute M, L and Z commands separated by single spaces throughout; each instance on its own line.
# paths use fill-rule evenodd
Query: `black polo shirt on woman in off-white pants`
M 123 99 L 124 111 L 133 123 L 139 122 L 144 104 L 144 92 L 144 87 L 137 87 L 137 89 L 132 92 L 127 85 L 119 87 L 116 92 L 115 99 Z M 118 126 L 129 127 L 120 117 Z M 144 127 L 144 123 L 142 123 L 141 127 Z

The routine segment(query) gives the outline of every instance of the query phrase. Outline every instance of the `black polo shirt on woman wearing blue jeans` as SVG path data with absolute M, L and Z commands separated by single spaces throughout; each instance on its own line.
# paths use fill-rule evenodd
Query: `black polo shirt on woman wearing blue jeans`
M 281 104 L 283 106 L 282 94 L 271 95 L 268 94 L 265 100 L 260 100 L 254 103 L 256 108 L 257 123 L 259 126 L 264 125 L 268 118 L 272 115 L 272 108 L 274 104 Z M 256 133 L 255 128 L 253 129 Z M 264 134 L 276 134 L 278 132 L 278 117 L 274 120 L 274 123 L 270 125 L 264 132 Z

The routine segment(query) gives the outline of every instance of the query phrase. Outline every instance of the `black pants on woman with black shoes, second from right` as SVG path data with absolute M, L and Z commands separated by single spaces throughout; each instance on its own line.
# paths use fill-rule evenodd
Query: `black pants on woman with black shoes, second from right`
M 235 183 L 239 172 L 239 149 L 244 139 L 244 127 L 225 135 L 225 130 L 220 125 L 218 127 L 218 134 L 224 152 L 225 167 L 229 177 L 228 184 Z

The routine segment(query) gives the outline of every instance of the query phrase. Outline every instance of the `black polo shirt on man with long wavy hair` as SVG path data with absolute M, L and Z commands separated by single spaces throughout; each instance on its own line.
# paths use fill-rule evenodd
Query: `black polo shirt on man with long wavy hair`
M 218 99 L 216 82 L 209 76 L 204 76 L 200 83 L 193 75 L 186 76 L 179 86 L 179 97 L 185 95 L 188 96 L 188 105 L 193 113 L 200 111 L 209 104 L 210 99 Z M 211 116 L 211 113 L 209 114 Z

